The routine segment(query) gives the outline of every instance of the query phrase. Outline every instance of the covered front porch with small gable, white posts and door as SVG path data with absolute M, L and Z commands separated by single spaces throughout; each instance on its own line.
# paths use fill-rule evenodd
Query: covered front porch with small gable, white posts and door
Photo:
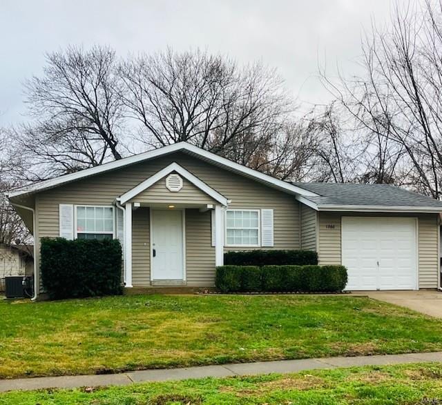
M 211 287 L 224 255 L 229 201 L 177 164 L 116 201 L 124 285 Z

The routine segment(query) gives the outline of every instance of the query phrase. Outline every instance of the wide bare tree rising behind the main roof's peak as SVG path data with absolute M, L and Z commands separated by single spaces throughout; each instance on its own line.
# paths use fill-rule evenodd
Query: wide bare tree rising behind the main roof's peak
M 274 134 L 291 108 L 281 79 L 260 63 L 238 68 L 206 52 L 168 50 L 128 60 L 120 71 L 149 146 L 187 141 L 233 156 L 237 140 Z

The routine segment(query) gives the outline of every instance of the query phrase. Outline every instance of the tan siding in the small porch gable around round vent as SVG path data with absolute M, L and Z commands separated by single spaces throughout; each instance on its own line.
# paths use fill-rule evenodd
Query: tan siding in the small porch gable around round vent
M 133 197 L 131 202 L 142 204 L 215 204 L 216 201 L 194 186 L 189 180 L 183 179 L 180 191 L 172 192 L 166 188 L 166 177 L 157 181 L 148 189 Z

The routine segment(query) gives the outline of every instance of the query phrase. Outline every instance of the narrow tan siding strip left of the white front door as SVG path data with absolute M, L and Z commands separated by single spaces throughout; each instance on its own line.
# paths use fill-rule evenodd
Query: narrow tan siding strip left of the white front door
M 132 213 L 132 284 L 151 284 L 150 214 L 148 208 L 138 208 Z

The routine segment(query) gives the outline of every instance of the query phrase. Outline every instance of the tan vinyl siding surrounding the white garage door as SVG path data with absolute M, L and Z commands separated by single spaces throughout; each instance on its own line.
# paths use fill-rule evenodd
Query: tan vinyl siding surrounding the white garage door
M 439 225 L 436 214 L 319 213 L 319 264 L 340 264 L 340 221 L 343 216 L 417 217 L 419 288 L 437 288 Z

